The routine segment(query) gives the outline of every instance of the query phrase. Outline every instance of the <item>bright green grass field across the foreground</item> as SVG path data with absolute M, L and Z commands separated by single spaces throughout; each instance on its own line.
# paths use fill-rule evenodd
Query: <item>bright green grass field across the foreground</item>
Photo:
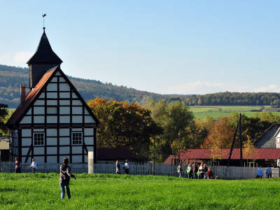
M 58 174 L 0 174 L 0 209 L 279 209 L 280 180 L 189 180 L 78 174 L 60 200 Z

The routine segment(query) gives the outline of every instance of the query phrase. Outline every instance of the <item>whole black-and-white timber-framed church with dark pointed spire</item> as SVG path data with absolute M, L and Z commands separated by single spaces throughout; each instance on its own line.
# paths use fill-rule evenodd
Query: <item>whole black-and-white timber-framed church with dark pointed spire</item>
M 45 28 L 27 64 L 30 91 L 20 85 L 21 104 L 7 123 L 12 160 L 87 162 L 88 151 L 96 157 L 99 121 L 60 68 Z

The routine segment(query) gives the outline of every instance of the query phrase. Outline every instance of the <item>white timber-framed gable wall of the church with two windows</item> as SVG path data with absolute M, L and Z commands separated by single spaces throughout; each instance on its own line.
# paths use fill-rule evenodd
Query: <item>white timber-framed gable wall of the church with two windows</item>
M 31 90 L 32 92 L 32 90 Z M 10 154 L 22 162 L 87 162 L 97 153 L 97 123 L 85 101 L 60 67 L 52 73 L 15 129 L 10 129 Z

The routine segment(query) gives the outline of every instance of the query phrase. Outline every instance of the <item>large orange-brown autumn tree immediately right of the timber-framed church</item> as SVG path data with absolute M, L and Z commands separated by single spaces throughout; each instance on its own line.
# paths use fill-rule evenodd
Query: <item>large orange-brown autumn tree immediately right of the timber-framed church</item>
M 151 118 L 151 111 L 138 104 L 96 98 L 87 102 L 100 121 L 97 132 L 99 147 L 126 146 L 148 157 L 151 138 L 162 132 Z

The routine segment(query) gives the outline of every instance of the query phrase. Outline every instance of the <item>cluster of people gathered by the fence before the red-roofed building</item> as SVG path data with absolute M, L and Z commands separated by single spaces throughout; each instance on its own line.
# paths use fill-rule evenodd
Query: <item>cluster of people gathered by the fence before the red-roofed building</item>
M 183 176 L 183 167 L 181 163 L 177 167 L 177 172 L 179 177 Z M 195 161 L 189 164 L 185 174 L 188 179 L 214 179 L 214 173 L 211 167 L 207 168 L 207 165 L 203 161 L 200 166 L 198 166 Z

